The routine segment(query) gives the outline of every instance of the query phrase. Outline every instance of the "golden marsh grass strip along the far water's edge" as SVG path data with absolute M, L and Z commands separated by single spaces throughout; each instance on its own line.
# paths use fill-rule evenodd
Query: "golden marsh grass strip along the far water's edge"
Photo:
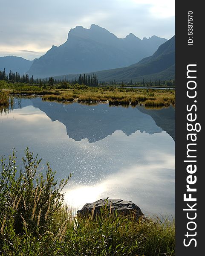
M 59 96 L 45 95 L 43 99 L 53 99 L 58 101 L 78 101 L 78 102 L 109 102 L 110 105 L 137 105 L 144 104 L 159 106 L 168 106 L 175 104 L 174 91 L 170 90 L 156 90 L 152 93 L 154 96 L 150 96 L 146 89 L 121 90 L 116 88 L 114 90 L 104 90 L 102 88 L 89 88 L 87 90 L 61 90 Z M 150 89 L 152 90 L 152 89 Z

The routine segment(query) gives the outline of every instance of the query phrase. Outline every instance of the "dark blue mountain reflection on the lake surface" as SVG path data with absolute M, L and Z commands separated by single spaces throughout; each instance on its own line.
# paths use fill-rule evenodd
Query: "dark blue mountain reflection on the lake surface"
M 32 105 L 46 113 L 52 121 L 58 120 L 66 126 L 69 138 L 80 141 L 87 138 L 90 143 L 102 140 L 114 131 L 123 131 L 129 136 L 135 131 L 154 134 L 166 131 L 175 140 L 175 111 L 172 107 L 162 109 L 109 107 L 108 104 L 64 105 L 31 99 Z M 55 111 L 53 111 L 55 108 Z M 144 113 L 146 115 L 144 115 Z M 147 118 L 150 115 L 154 122 Z

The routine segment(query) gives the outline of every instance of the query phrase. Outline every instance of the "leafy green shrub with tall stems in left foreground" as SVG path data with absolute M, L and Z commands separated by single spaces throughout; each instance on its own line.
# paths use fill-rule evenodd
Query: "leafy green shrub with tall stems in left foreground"
M 52 224 L 53 217 L 63 204 L 62 189 L 68 182 L 61 180 L 57 186 L 55 172 L 47 163 L 46 177 L 37 174 L 41 160 L 33 156 L 26 148 L 26 157 L 23 158 L 24 171 L 17 172 L 16 157 L 13 152 L 6 164 L 1 159 L 2 172 L 0 174 L 0 240 L 3 248 L 17 235 L 45 233 Z

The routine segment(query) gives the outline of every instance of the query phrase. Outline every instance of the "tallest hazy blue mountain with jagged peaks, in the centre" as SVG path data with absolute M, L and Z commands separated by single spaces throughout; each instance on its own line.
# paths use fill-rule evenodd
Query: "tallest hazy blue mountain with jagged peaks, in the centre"
M 131 33 L 117 38 L 98 25 L 92 24 L 90 29 L 77 26 L 69 31 L 64 44 L 52 46 L 35 60 L 29 74 L 43 78 L 126 67 L 153 54 L 165 41 L 157 36 L 141 40 Z

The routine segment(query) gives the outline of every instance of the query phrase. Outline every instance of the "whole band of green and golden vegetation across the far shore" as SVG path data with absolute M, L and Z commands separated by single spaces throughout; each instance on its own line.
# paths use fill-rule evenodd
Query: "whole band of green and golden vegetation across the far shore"
M 1 80 L 0 90 L 10 95 L 42 96 L 43 100 L 59 102 L 107 102 L 110 105 L 131 104 L 132 106 L 145 105 L 147 107 L 175 106 L 175 90 L 170 88 L 128 88 L 121 85 L 91 87 L 67 82 L 40 85 L 9 83 Z

